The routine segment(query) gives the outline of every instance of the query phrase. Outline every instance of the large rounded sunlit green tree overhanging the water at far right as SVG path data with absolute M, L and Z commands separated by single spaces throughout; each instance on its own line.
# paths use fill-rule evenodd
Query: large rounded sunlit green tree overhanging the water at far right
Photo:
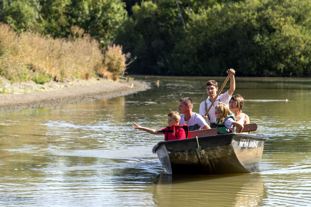
M 281 0 L 202 9 L 192 15 L 183 44 L 173 52 L 174 70 L 217 75 L 233 67 L 244 75 L 308 74 L 310 8 L 307 1 Z

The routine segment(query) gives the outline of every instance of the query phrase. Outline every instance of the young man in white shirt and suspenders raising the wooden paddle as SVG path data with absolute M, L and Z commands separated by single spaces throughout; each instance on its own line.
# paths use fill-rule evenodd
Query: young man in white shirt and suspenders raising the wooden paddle
M 217 95 L 218 83 L 215 80 L 209 80 L 206 83 L 206 91 L 207 91 L 207 94 L 209 95 L 209 97 L 207 97 L 207 99 L 200 104 L 199 114 L 202 115 L 202 117 L 204 119 L 207 119 L 207 122 L 209 122 L 211 124 L 210 125 L 211 128 L 216 128 L 215 106 L 219 102 L 222 102 L 228 106 L 228 103 L 232 97 L 234 90 L 235 90 L 235 80 L 234 80 L 235 70 L 233 70 L 233 69 L 227 70 L 227 73 L 230 74 L 230 88 L 227 92 L 220 94 L 220 96 L 215 101 L 214 106 L 211 107 L 211 110 L 208 112 L 207 116 L 205 116 L 205 113 L 206 113 L 207 109 L 211 106 L 211 103 L 214 101 L 214 99 Z

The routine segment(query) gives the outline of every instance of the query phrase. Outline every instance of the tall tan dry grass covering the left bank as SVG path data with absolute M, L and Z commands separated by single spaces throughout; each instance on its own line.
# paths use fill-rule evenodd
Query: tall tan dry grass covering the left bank
M 105 55 L 99 43 L 83 33 L 73 27 L 68 39 L 30 32 L 18 36 L 10 26 L 0 23 L 0 74 L 12 82 L 36 83 L 89 79 L 96 75 L 116 79 L 124 74 L 126 59 L 122 47 L 109 47 Z

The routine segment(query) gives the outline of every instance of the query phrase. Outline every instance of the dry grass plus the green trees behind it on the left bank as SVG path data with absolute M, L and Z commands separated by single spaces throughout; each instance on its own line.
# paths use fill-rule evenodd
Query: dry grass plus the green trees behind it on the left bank
M 130 55 L 112 43 L 127 19 L 121 0 L 0 0 L 0 76 L 118 79 Z

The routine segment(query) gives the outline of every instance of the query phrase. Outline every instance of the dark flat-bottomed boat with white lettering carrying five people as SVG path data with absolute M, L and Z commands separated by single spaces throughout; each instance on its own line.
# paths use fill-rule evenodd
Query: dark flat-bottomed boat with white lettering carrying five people
M 244 124 L 254 131 L 257 124 Z M 253 128 L 252 128 L 253 127 Z M 256 130 L 255 129 L 255 130 Z M 208 136 L 196 136 L 207 134 Z M 217 131 L 216 131 L 217 134 Z M 259 169 L 267 137 L 243 133 L 215 135 L 215 129 L 189 132 L 182 140 L 159 142 L 153 147 L 169 174 L 250 173 Z

